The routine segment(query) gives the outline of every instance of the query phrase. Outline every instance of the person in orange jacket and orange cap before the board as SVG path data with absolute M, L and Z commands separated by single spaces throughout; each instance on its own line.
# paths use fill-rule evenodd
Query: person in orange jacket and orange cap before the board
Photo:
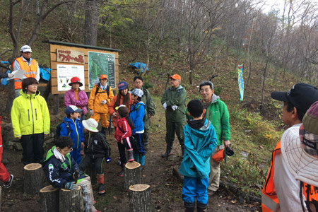
M 107 85 L 107 75 L 102 74 L 100 76 L 100 82 L 94 86 L 90 91 L 90 98 L 88 100 L 88 107 L 90 108 L 91 118 L 95 119 L 96 122 L 102 120 L 102 134 L 106 133 L 106 129 L 110 126 L 108 118 L 108 105 L 114 98 L 112 88 Z

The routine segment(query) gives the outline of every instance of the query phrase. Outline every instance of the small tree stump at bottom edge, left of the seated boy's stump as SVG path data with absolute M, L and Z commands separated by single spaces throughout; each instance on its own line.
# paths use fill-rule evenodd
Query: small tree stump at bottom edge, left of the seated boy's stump
M 45 212 L 59 212 L 59 189 L 51 185 L 40 190 L 40 208 Z

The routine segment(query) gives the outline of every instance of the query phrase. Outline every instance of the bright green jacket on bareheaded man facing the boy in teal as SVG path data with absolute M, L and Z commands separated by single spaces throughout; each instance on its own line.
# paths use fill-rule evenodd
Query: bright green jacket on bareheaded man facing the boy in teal
M 186 114 L 187 112 L 186 110 Z M 208 108 L 206 108 L 205 117 L 216 130 L 216 136 L 218 138 L 217 146 L 220 146 L 223 141 L 230 141 L 230 114 L 228 113 L 228 107 L 220 100 L 218 95 L 212 95 L 211 102 L 208 103 Z M 187 114 L 187 119 L 192 119 L 192 117 Z

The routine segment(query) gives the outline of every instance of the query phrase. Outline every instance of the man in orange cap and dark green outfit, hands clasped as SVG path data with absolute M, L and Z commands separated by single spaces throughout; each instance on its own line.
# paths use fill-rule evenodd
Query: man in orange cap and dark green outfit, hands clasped
M 167 143 L 166 151 L 163 158 L 170 155 L 175 140 L 175 133 L 177 134 L 179 143 L 181 145 L 182 156 L 184 151 L 184 134 L 183 128 L 185 124 L 185 102 L 187 100 L 187 91 L 180 86 L 181 76 L 174 74 L 170 76 L 171 87 L 165 90 L 161 104 L 165 108 L 165 126 L 167 133 L 165 134 L 165 142 Z

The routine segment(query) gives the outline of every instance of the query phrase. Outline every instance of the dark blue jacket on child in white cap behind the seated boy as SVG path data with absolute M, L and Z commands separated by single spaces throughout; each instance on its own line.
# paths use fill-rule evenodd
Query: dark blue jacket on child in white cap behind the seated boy
M 66 128 L 64 122 L 69 122 L 69 128 L 71 132 Z M 81 148 L 81 143 L 84 142 L 84 129 L 80 119 L 69 119 L 68 117 L 64 117 L 64 121 L 61 124 L 61 136 L 69 136 L 73 141 L 73 149 L 77 150 Z

